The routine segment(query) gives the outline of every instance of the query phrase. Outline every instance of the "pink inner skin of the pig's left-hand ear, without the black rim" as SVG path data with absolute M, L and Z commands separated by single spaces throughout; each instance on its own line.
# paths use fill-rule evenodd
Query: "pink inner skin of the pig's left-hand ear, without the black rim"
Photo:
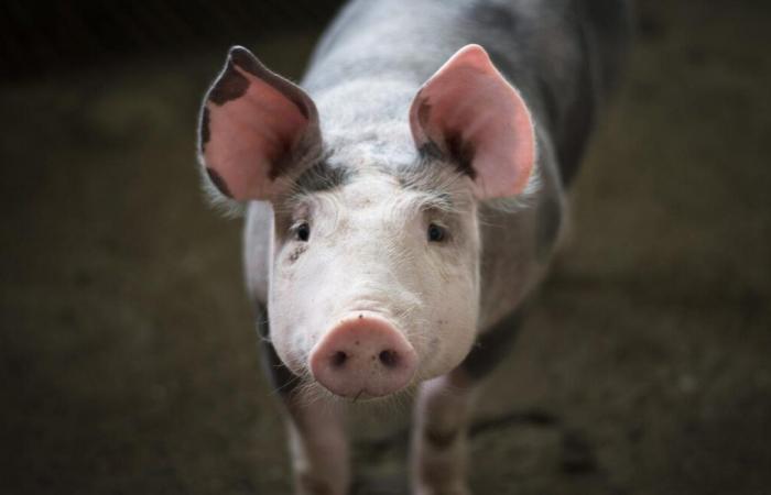
M 232 69 L 249 85 L 241 96 L 221 105 L 206 102 L 211 139 L 204 158 L 235 199 L 268 199 L 308 119 L 296 102 L 264 80 L 235 64 Z

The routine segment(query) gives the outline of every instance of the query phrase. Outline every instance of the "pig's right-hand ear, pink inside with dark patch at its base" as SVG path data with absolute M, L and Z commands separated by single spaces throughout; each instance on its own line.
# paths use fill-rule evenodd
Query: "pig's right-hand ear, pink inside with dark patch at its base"
M 535 160 L 533 123 L 522 97 L 479 45 L 453 55 L 410 109 L 415 145 L 438 146 L 474 179 L 480 199 L 515 196 Z

